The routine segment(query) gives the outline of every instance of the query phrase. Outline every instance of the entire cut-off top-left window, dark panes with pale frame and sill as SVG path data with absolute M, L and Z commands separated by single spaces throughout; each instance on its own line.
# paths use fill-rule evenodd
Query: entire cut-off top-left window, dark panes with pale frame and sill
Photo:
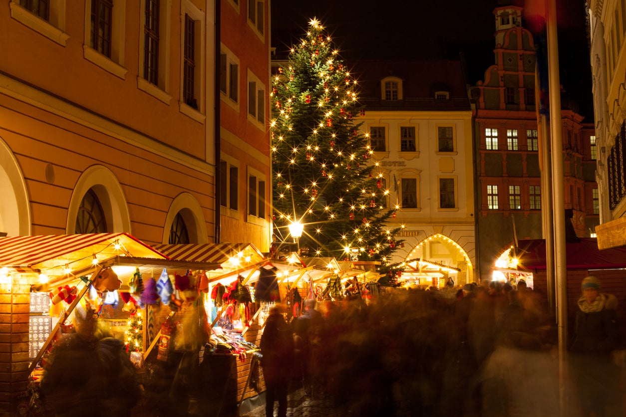
M 69 35 L 65 30 L 66 0 L 10 0 L 11 18 L 65 46 Z

